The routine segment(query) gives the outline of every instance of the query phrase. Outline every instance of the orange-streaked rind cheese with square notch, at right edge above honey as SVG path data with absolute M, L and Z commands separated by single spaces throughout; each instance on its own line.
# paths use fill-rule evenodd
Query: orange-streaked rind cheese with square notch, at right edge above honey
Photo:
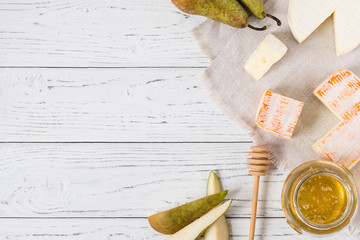
M 313 149 L 325 159 L 348 168 L 360 160 L 360 81 L 349 70 L 339 70 L 315 90 L 341 122 L 319 139 Z

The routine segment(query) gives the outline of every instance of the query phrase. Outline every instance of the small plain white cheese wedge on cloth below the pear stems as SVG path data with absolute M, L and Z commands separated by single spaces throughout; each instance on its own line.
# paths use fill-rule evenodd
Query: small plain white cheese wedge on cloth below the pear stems
M 259 80 L 286 52 L 285 44 L 274 35 L 268 34 L 246 61 L 244 68 L 256 80 Z

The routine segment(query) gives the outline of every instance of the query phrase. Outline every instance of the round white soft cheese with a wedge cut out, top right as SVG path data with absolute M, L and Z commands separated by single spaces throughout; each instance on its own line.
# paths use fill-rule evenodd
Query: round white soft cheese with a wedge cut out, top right
M 360 44 L 359 0 L 290 0 L 288 22 L 301 43 L 334 13 L 336 54 L 344 55 Z

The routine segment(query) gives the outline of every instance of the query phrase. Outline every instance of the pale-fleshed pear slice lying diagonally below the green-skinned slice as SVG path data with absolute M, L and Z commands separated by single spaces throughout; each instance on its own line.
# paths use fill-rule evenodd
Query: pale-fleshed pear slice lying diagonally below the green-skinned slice
M 228 210 L 232 202 L 232 199 L 227 202 L 217 206 L 212 209 L 210 212 L 202 216 L 201 218 L 195 220 L 191 224 L 187 225 L 180 231 L 176 232 L 174 235 L 171 235 L 167 240 L 195 240 L 201 233 L 203 233 L 206 228 L 218 220 L 224 213 Z

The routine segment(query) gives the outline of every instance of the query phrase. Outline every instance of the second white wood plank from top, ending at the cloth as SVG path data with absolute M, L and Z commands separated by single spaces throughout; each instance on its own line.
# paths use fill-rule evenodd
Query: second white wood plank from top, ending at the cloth
M 250 141 L 202 69 L 0 69 L 0 141 Z

